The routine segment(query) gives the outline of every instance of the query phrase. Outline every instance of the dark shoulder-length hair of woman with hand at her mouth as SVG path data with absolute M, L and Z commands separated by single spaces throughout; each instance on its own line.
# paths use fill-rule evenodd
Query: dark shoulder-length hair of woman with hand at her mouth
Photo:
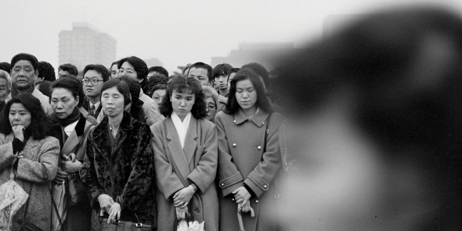
M 48 117 L 42 109 L 40 100 L 31 94 L 19 94 L 6 103 L 2 113 L 3 118 L 0 120 L 0 133 L 8 135 L 12 132 L 8 115 L 10 114 L 10 108 L 13 103 L 21 103 L 24 108 L 30 112 L 30 125 L 25 129 L 24 133 L 30 134 L 34 140 L 45 138 L 49 129 Z

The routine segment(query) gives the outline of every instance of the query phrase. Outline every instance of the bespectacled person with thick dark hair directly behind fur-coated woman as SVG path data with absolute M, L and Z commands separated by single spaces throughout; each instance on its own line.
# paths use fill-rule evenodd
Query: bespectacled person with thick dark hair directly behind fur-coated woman
M 140 83 L 143 93 L 147 94 L 149 84 L 147 81 L 148 68 L 145 61 L 136 56 L 130 56 L 119 60 L 117 68 L 119 68 L 119 76 L 126 75 L 136 79 Z

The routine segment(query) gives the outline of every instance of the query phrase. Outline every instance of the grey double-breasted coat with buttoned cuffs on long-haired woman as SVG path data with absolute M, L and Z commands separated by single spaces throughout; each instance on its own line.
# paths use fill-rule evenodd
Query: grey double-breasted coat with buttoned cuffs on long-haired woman
M 243 214 L 246 231 L 271 230 L 267 211 L 274 210 L 276 195 L 274 179 L 281 166 L 279 128 L 284 117 L 273 113 L 268 123 L 266 152 L 265 120 L 268 113 L 258 111 L 251 119 L 239 109 L 234 115 L 220 111 L 215 116 L 218 129 L 220 230 L 239 230 L 237 203 L 232 192 L 244 186 L 252 189 L 256 197 L 250 199 L 255 217 Z M 261 212 L 262 211 L 262 212 Z

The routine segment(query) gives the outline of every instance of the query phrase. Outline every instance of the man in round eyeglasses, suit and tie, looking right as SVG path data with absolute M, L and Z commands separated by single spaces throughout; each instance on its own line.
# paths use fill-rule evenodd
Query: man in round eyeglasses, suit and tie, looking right
M 99 101 L 101 88 L 104 82 L 109 80 L 109 71 L 101 64 L 89 64 L 84 68 L 82 85 L 85 93 L 84 109 L 88 115 L 95 118 L 101 112 L 102 105 Z

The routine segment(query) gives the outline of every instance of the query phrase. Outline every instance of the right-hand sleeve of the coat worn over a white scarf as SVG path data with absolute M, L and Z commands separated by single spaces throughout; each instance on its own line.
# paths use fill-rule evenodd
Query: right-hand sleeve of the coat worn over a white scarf
M 212 183 L 215 182 L 218 164 L 217 129 L 215 125 L 209 127 L 204 140 L 204 149 L 198 150 L 201 158 L 194 170 L 188 175 L 188 179 L 193 181 L 196 186 L 205 192 Z

